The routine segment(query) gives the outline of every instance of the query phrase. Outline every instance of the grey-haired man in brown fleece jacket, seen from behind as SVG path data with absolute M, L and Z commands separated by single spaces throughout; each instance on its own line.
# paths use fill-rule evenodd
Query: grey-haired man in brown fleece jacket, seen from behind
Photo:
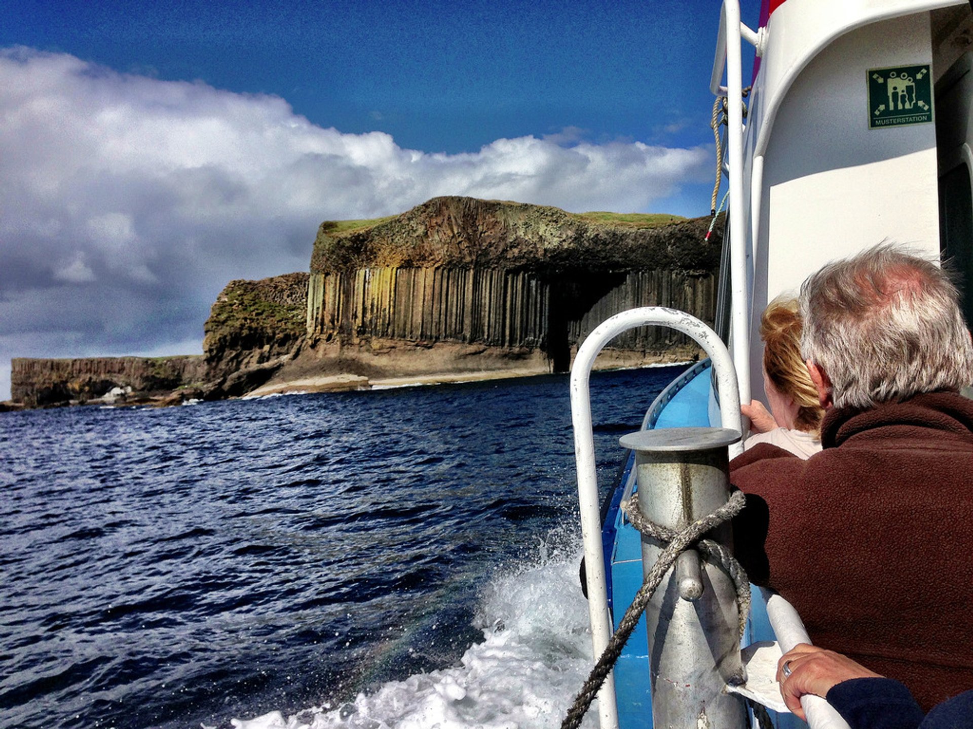
M 924 710 L 973 687 L 973 343 L 938 265 L 882 245 L 804 283 L 823 450 L 760 444 L 736 549 L 811 640 L 905 683 Z

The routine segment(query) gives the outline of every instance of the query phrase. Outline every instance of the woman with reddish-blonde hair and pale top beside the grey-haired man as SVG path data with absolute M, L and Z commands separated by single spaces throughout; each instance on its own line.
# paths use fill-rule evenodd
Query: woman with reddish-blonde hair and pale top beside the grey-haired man
M 795 299 L 775 298 L 760 318 L 764 340 L 764 390 L 770 411 L 759 400 L 743 404 L 753 432 L 743 443 L 771 443 L 801 458 L 821 450 L 820 429 L 824 408 L 801 358 L 801 316 Z

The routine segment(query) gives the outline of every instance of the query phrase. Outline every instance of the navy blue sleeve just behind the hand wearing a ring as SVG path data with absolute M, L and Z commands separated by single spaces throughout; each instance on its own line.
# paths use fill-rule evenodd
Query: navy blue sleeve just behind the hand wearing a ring
M 851 729 L 918 729 L 922 710 L 909 689 L 891 678 L 852 678 L 825 697 Z

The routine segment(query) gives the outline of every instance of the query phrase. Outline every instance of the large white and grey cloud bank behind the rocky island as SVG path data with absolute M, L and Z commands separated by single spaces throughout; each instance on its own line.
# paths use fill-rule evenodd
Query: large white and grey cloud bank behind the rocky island
M 323 220 L 440 194 L 647 210 L 706 181 L 709 157 L 573 128 L 427 154 L 316 126 L 277 97 L 0 51 L 0 374 L 12 356 L 201 340 L 231 279 L 306 270 Z

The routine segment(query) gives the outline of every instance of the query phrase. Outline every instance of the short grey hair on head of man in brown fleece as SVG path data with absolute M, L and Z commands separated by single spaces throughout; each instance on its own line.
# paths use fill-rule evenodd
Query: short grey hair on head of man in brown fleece
M 973 383 L 959 294 L 936 263 L 882 243 L 801 286 L 801 355 L 827 373 L 836 407 L 867 408 Z

